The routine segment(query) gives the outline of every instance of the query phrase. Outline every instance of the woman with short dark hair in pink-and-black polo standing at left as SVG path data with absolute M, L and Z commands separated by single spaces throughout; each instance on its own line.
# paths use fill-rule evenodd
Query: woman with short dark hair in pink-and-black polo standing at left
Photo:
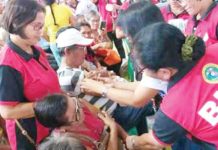
M 60 92 L 56 73 L 35 46 L 43 34 L 44 8 L 35 0 L 10 0 L 2 19 L 10 39 L 0 51 L 0 114 L 12 150 L 34 150 L 49 134 L 34 117 L 34 102 Z

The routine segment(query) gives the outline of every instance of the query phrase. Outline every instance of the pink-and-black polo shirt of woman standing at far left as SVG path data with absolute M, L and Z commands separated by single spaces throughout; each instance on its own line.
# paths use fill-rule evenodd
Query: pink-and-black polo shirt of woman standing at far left
M 33 55 L 30 55 L 10 41 L 0 51 L 0 105 L 35 102 L 60 92 L 57 75 L 45 53 L 39 47 L 32 48 Z M 19 119 L 19 122 L 37 143 L 49 134 L 35 118 Z M 6 120 L 6 128 L 13 150 L 32 148 L 13 119 Z

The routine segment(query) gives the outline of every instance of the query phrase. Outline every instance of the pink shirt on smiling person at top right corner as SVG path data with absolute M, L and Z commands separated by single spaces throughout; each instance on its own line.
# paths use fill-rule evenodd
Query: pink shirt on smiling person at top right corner
M 213 2 L 200 20 L 196 16 L 188 20 L 185 34 L 195 34 L 206 43 L 206 46 L 218 43 L 218 5 Z

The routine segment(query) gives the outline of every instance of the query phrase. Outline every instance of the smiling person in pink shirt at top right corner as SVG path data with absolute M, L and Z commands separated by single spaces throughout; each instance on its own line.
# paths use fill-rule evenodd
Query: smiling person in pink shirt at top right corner
M 218 4 L 215 0 L 180 0 L 189 15 L 185 34 L 201 37 L 206 46 L 218 43 Z

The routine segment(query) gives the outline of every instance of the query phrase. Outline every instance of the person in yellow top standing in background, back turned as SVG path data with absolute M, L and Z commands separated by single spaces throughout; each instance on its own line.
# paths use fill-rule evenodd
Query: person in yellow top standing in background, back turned
M 49 37 L 50 48 L 58 63 L 61 62 L 61 57 L 56 46 L 57 31 L 66 26 L 74 25 L 75 18 L 70 7 L 65 4 L 58 4 L 55 0 L 44 0 L 46 4 L 45 15 L 45 37 Z

